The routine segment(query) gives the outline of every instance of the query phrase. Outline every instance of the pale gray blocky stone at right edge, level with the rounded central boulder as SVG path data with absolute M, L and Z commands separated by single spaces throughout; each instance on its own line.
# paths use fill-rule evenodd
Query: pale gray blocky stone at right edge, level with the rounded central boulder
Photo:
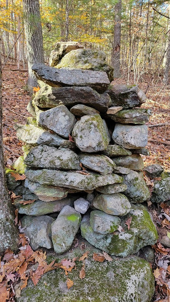
M 112 134 L 115 143 L 127 149 L 138 149 L 147 145 L 148 128 L 146 125 L 116 124 Z

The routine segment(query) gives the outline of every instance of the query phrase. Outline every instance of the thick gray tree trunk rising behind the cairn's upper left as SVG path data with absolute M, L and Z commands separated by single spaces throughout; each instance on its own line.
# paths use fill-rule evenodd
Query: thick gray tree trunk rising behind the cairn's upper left
M 32 65 L 34 63 L 44 63 L 39 0 L 23 0 L 23 12 L 29 73 L 28 90 L 32 92 L 32 88 L 37 86 Z

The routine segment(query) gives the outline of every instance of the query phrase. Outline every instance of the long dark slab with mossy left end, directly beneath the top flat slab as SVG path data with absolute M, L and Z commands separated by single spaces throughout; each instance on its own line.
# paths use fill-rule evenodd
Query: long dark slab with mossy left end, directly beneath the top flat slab
M 34 96 L 34 102 L 41 108 L 53 108 L 61 104 L 68 107 L 83 104 L 106 112 L 112 101 L 107 93 L 99 94 L 91 87 L 56 88 L 44 85 Z

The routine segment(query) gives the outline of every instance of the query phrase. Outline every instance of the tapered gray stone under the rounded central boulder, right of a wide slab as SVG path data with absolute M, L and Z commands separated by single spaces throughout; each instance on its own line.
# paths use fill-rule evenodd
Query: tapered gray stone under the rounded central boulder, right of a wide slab
M 102 175 L 111 174 L 116 165 L 106 155 L 81 154 L 80 162 L 84 167 L 99 172 Z

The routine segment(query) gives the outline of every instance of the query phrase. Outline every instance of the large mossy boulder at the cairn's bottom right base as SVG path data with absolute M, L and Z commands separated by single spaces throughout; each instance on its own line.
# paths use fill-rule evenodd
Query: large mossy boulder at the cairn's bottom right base
M 128 230 L 126 221 L 130 217 L 132 219 Z M 80 225 L 81 235 L 96 248 L 121 257 L 134 254 L 140 248 L 153 245 L 157 241 L 155 225 L 144 206 L 132 205 L 130 212 L 120 218 L 123 231 L 116 231 L 114 234 L 99 234 L 93 231 L 90 216 L 84 215 Z

